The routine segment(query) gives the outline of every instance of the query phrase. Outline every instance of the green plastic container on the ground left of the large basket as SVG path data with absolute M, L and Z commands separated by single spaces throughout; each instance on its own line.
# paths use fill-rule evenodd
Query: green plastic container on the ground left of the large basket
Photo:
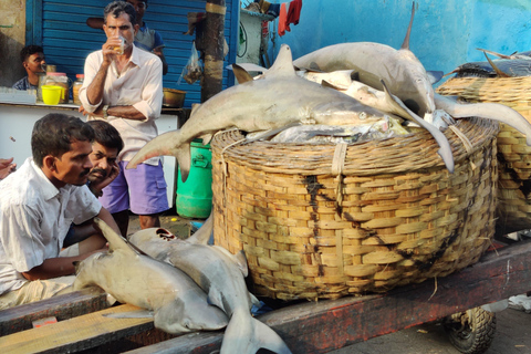
M 186 183 L 177 176 L 177 214 L 185 218 L 206 219 L 212 209 L 212 152 L 201 139 L 190 144 L 190 173 Z

